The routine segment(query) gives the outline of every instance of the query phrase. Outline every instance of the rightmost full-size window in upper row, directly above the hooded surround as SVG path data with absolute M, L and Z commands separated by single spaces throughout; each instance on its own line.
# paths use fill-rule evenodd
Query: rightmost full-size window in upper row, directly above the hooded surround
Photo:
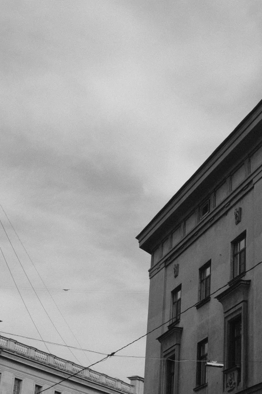
M 240 249 L 240 245 L 242 241 L 244 241 L 244 247 Z M 237 251 L 236 251 L 236 247 L 237 247 Z M 243 256 L 242 262 L 240 261 L 241 256 Z M 237 238 L 235 238 L 231 242 L 231 275 L 230 275 L 231 280 L 243 276 L 245 274 L 245 269 L 246 269 L 245 266 L 246 266 L 246 231 L 243 231 L 241 232 L 241 234 L 238 235 Z

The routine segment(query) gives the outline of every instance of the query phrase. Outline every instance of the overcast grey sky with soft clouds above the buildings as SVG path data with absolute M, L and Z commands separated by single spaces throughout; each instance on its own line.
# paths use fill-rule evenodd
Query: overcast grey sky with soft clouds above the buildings
M 0 203 L 80 345 L 111 353 L 146 333 L 150 256 L 136 235 L 261 99 L 261 1 L 1 8 Z M 78 346 L 1 209 L 0 219 L 60 335 Z M 1 225 L 0 246 L 41 335 L 62 343 Z M 39 338 L 1 255 L 0 267 L 0 329 Z M 121 354 L 144 356 L 145 340 Z M 85 366 L 100 358 L 75 355 Z M 95 369 L 144 376 L 144 360 Z

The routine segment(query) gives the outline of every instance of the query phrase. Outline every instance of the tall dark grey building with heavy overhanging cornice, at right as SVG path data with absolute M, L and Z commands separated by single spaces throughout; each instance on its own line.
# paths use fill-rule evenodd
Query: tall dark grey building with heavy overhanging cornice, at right
M 161 326 L 145 394 L 262 393 L 262 101 L 137 239 Z

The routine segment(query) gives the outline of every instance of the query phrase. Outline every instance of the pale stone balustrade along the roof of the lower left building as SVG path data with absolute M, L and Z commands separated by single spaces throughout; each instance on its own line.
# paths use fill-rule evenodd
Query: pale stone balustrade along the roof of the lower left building
M 41 352 L 36 348 L 24 345 L 23 343 L 17 342 L 11 338 L 5 338 L 0 336 L 0 347 L 6 348 L 15 353 L 20 353 L 23 356 L 26 356 L 30 359 L 35 359 L 38 362 L 50 365 L 57 369 L 63 369 L 64 371 L 72 374 L 81 371 L 84 368 L 81 365 L 74 364 L 71 361 L 64 360 L 49 353 Z M 83 371 L 79 372 L 78 376 L 86 380 L 91 379 L 99 382 L 100 384 L 114 387 L 114 389 L 118 390 L 119 392 L 127 392 L 128 394 L 134 393 L 134 386 L 132 384 L 125 383 L 119 379 L 114 379 L 113 377 L 93 371 L 89 368 L 86 368 Z

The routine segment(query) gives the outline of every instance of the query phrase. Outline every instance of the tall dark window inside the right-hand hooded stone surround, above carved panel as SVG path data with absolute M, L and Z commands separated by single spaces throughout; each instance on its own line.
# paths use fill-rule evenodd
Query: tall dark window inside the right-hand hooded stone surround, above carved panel
M 241 367 L 241 315 L 228 325 L 228 368 Z M 239 374 L 240 376 L 240 374 Z

